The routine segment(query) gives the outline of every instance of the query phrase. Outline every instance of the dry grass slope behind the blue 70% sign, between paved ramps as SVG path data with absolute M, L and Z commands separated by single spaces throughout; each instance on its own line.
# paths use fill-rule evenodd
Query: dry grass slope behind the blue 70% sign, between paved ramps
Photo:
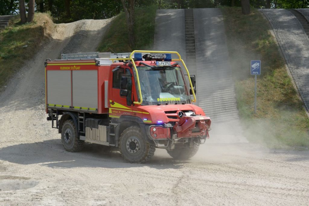
M 223 7 L 235 92 L 245 135 L 272 148 L 308 147 L 309 119 L 293 87 L 268 21 L 258 10 Z M 254 76 L 250 60 L 261 60 L 254 114 Z

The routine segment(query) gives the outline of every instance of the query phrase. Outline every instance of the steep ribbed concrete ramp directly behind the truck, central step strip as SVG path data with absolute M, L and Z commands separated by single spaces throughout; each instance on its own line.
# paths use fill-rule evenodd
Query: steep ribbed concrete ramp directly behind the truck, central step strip
M 178 51 L 196 75 L 197 105 L 212 119 L 208 142 L 247 142 L 243 137 L 220 9 L 157 10 L 154 49 Z

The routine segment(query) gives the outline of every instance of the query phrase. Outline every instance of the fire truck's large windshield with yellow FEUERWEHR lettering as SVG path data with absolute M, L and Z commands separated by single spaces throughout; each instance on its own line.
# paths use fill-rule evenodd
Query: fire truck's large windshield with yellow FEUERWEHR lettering
M 190 95 L 179 67 L 137 67 L 142 105 L 189 104 Z M 136 79 L 136 78 L 135 78 Z

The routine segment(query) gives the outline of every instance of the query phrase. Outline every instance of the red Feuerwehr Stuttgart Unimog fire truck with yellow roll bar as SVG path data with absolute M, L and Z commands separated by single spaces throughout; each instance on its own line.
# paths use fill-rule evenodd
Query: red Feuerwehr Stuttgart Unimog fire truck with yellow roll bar
M 149 160 L 155 148 L 175 159 L 193 157 L 209 137 L 211 120 L 192 104 L 195 76 L 178 52 L 100 54 L 63 54 L 45 62 L 47 120 L 64 148 L 76 152 L 84 142 L 118 147 L 131 163 Z

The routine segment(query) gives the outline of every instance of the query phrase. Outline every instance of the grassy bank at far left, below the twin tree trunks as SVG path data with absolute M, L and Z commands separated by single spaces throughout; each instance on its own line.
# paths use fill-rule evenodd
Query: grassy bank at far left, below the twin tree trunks
M 0 30 L 0 89 L 36 54 L 42 40 L 48 38 L 52 24 L 49 14 L 36 13 L 32 23 L 20 24 L 19 16 L 15 16 L 9 27 Z

